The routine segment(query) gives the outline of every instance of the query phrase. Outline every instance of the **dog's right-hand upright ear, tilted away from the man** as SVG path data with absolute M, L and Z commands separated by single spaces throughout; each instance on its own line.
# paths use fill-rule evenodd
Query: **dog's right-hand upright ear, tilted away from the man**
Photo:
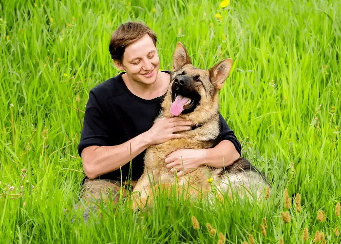
M 224 81 L 228 77 L 232 67 L 232 60 L 225 59 L 220 61 L 218 64 L 214 65 L 210 68 L 209 71 L 209 79 L 219 91 L 223 85 Z

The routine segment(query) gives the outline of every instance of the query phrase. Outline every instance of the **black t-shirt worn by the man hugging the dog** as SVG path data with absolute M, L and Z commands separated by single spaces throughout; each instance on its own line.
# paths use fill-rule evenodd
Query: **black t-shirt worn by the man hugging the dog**
M 163 71 L 170 73 L 169 71 Z M 81 156 L 85 147 L 119 145 L 137 135 L 149 130 L 160 112 L 163 96 L 145 100 L 134 95 L 125 85 L 122 74 L 104 81 L 89 94 L 86 105 L 84 126 L 78 144 L 78 154 Z M 227 122 L 220 115 L 219 140 L 231 141 L 236 150 L 241 152 L 241 144 L 234 132 L 228 127 Z M 143 159 L 145 151 L 132 160 L 132 180 L 137 180 L 143 173 Z M 121 169 L 100 176 L 101 179 L 115 179 L 128 176 L 130 163 Z

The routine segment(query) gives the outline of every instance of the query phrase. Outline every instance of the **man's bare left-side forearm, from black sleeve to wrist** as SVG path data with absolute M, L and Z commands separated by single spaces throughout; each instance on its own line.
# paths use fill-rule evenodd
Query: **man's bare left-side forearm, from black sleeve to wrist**
M 145 132 L 120 145 L 85 148 L 83 152 L 93 151 L 86 153 L 87 158 L 82 153 L 84 172 L 89 179 L 112 172 L 129 163 L 150 145 L 151 140 Z

